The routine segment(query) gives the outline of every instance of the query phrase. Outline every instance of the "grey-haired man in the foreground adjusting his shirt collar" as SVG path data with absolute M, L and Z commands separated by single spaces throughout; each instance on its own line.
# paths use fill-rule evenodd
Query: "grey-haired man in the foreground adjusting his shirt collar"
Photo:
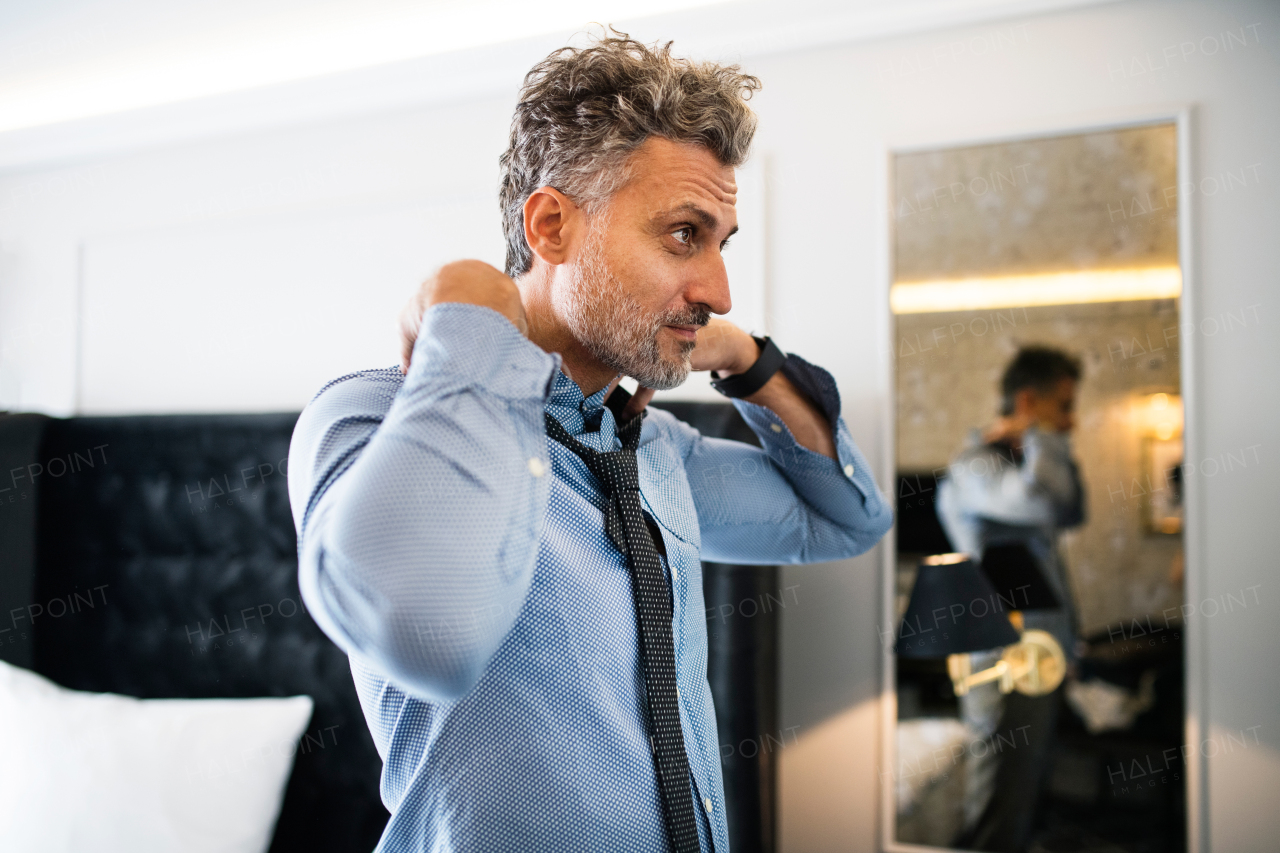
M 302 594 L 384 761 L 380 850 L 727 850 L 700 557 L 837 560 L 891 525 L 831 377 L 710 318 L 758 86 L 626 37 L 539 63 L 506 274 L 442 268 L 401 369 L 298 421 Z M 690 370 L 763 451 L 644 410 Z

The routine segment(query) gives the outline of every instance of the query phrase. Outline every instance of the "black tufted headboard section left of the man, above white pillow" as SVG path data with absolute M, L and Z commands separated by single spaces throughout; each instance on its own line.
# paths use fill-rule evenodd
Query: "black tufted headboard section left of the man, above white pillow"
M 296 420 L 46 420 L 18 624 L 33 626 L 33 669 L 74 689 L 311 695 L 271 852 L 371 850 L 387 822 L 381 762 L 347 656 L 298 596 L 284 470 Z

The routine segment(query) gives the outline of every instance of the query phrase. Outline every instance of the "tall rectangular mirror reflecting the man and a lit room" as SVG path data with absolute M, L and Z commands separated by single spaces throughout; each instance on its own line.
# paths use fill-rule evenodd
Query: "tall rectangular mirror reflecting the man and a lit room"
M 891 847 L 1185 849 L 1176 163 L 892 159 Z

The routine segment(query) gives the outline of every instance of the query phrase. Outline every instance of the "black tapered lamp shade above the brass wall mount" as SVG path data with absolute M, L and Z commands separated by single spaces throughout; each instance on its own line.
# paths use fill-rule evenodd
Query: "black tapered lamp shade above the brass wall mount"
M 897 629 L 900 657 L 946 657 L 983 652 L 1019 640 L 1011 610 L 968 557 L 920 564 L 911 601 Z M 943 557 L 943 560 L 946 560 Z

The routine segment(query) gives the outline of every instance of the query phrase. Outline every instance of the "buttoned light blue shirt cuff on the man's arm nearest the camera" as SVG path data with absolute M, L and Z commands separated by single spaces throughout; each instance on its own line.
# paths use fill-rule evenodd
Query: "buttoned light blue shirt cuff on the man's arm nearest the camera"
M 509 400 L 545 398 L 559 370 L 559 353 L 545 352 L 498 311 L 442 302 L 422 314 L 404 384 L 483 387 Z

